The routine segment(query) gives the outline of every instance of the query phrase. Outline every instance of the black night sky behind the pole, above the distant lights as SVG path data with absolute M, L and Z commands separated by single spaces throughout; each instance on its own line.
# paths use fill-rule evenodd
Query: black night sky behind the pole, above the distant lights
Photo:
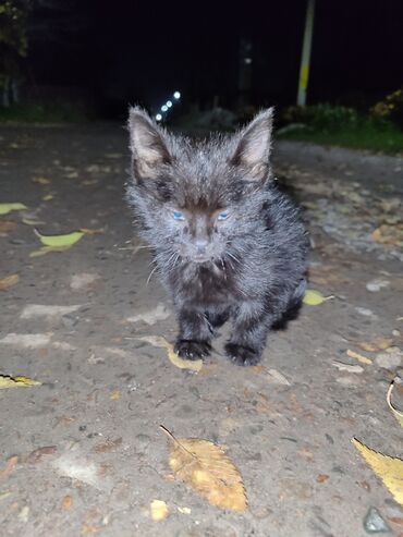
M 295 102 L 306 2 L 42 0 L 28 16 L 24 91 L 84 99 L 120 118 L 157 109 L 180 89 L 183 107 L 233 108 L 241 39 L 252 46 L 248 100 Z M 403 2 L 318 0 L 309 103 L 369 106 L 402 84 Z

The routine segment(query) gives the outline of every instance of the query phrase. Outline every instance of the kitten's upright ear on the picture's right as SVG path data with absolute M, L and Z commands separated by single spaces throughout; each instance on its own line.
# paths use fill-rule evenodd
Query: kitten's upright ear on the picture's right
M 251 180 L 260 181 L 268 175 L 273 111 L 264 110 L 241 131 L 232 163 L 244 168 Z

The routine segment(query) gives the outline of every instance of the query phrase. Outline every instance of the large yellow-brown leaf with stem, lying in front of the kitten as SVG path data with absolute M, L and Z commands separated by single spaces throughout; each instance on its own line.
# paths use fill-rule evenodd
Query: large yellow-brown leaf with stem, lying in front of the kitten
M 208 440 L 170 437 L 169 465 L 174 474 L 212 505 L 245 511 L 246 495 L 239 469 L 223 449 Z

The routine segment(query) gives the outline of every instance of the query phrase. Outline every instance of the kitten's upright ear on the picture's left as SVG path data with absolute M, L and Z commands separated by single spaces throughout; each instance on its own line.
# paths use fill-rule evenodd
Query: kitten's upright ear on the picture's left
M 160 167 L 171 162 L 163 132 L 141 108 L 132 108 L 129 117 L 130 147 L 134 173 L 141 179 L 156 179 Z

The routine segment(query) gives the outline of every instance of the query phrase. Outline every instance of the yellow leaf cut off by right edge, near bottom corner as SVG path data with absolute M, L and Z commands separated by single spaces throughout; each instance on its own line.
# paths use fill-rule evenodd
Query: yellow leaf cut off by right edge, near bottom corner
M 396 502 L 403 505 L 403 461 L 371 450 L 356 438 L 353 438 L 352 442 L 377 476 L 382 479 L 383 484 L 392 492 Z

